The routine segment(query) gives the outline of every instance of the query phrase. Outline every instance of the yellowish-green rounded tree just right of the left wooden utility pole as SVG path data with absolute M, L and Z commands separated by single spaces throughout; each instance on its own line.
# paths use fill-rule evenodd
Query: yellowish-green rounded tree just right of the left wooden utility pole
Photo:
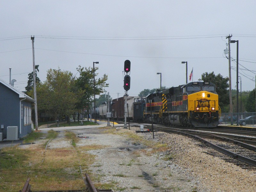
M 49 69 L 46 81 L 37 88 L 37 106 L 53 118 L 70 115 L 77 102 L 77 94 L 72 91 L 74 79 L 69 71 L 60 68 Z

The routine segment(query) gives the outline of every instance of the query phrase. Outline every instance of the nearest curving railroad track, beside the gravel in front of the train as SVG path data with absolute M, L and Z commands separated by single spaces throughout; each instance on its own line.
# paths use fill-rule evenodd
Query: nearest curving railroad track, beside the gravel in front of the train
M 226 162 L 236 164 L 243 169 L 256 170 L 256 147 L 243 141 L 198 130 L 176 129 L 164 126 L 154 126 L 154 130 L 173 132 L 194 138 L 200 141 L 199 146 L 207 148 L 206 153 L 217 156 Z

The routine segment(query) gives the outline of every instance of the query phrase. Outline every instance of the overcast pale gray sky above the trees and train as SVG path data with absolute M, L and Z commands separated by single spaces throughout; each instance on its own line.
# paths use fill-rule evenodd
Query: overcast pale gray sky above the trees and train
M 35 36 L 38 77 L 47 70 L 92 67 L 108 74 L 110 96 L 123 96 L 124 61 L 131 61 L 130 96 L 144 89 L 172 87 L 204 72 L 228 76 L 223 52 L 228 42 L 239 40 L 239 76 L 242 91 L 255 88 L 256 1 L 13 1 L 1 0 L 0 78 L 25 90 L 33 71 L 31 35 Z M 236 89 L 236 43 L 231 44 L 232 89 Z M 188 80 L 189 82 L 189 80 Z M 239 81 L 240 89 L 240 81 Z

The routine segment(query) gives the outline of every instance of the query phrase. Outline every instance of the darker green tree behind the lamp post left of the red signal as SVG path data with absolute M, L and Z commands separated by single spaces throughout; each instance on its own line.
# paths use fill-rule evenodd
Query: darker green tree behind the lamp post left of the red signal
M 79 67 L 76 69 L 79 72 L 80 76 L 76 79 L 74 89 L 75 91 L 79 91 L 81 93 L 79 100 L 76 103 L 76 109 L 81 109 L 83 106 L 91 106 L 92 103 L 92 98 L 94 96 L 93 68 L 81 67 L 79 65 Z M 95 72 L 98 69 L 98 67 L 95 67 Z M 104 74 L 103 77 L 97 78 L 99 74 L 95 72 L 95 95 L 100 95 L 100 93 L 103 93 L 104 87 L 108 87 L 108 84 L 106 83 L 106 81 L 108 80 L 108 76 Z

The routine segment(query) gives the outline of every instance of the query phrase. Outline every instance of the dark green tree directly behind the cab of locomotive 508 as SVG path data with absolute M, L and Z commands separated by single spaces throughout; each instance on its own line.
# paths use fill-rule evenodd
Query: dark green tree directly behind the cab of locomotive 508
M 223 77 L 220 74 L 215 75 L 214 72 L 212 73 L 203 73 L 202 74 L 202 79 L 205 82 L 212 82 L 213 84 L 216 85 L 216 92 L 219 95 L 219 106 L 221 109 L 223 109 L 225 106 L 229 105 L 229 93 L 227 88 L 229 87 L 228 85 L 228 77 Z

